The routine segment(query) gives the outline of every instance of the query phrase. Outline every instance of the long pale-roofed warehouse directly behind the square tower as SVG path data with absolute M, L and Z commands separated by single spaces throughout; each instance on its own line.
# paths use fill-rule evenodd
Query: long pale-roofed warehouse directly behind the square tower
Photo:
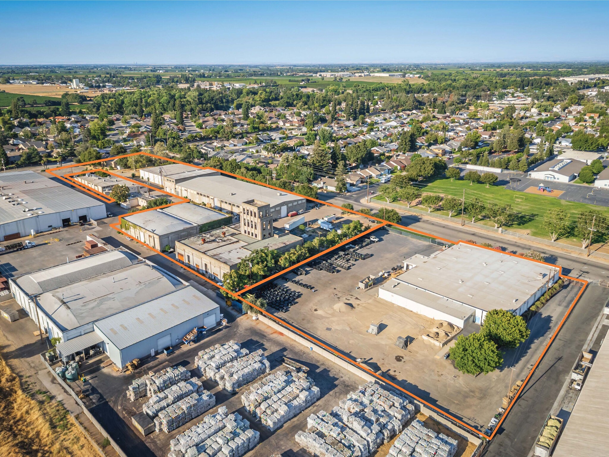
M 292 211 L 306 210 L 305 197 L 239 181 L 213 170 L 174 164 L 144 168 L 139 175 L 141 179 L 163 186 L 167 192 L 239 216 L 244 213 L 244 204 L 246 215 L 255 206 L 264 212 L 257 213 L 259 218 L 273 220 L 285 218 Z

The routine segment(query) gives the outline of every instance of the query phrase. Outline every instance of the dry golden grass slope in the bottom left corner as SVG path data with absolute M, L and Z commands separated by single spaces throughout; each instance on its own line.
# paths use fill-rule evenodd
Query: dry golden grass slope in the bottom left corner
M 74 419 L 46 392 L 41 400 L 21 388 L 0 357 L 0 455 L 93 457 L 99 455 Z

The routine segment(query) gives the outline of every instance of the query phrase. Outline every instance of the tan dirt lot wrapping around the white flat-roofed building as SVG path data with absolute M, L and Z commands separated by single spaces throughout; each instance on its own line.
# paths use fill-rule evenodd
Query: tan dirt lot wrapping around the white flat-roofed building
M 532 317 L 528 322 L 529 340 L 504 354 L 504 366 L 474 378 L 463 375 L 450 360 L 444 360 L 448 347 L 440 348 L 420 338 L 423 330 L 434 323 L 432 319 L 379 299 L 378 284 L 366 291 L 356 289 L 357 282 L 368 274 L 378 275 L 414 253 L 429 255 L 438 250 L 433 244 L 387 230 L 379 230 L 375 235 L 381 241 L 360 251 L 373 256 L 357 261 L 350 270 L 329 274 L 309 269 L 308 274 L 298 277 L 315 286 L 316 291 L 289 284 L 303 296 L 280 317 L 353 358 L 366 359 L 371 369 L 382 370 L 407 391 L 484 431 L 509 390 L 510 378 L 515 383 L 526 377 L 579 286 L 565 286 Z M 345 308 L 338 303 L 348 305 Z M 379 324 L 379 335 L 367 333 L 371 323 Z M 470 324 L 462 334 L 473 331 L 479 331 L 479 326 Z M 398 336 L 409 336 L 414 342 L 405 351 L 398 349 L 395 346 Z

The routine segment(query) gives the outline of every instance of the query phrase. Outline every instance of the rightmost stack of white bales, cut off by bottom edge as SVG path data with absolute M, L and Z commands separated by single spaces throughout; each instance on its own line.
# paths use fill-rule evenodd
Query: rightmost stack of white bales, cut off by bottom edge
M 429 430 L 418 419 L 404 430 L 389 450 L 390 457 L 453 457 L 457 440 Z

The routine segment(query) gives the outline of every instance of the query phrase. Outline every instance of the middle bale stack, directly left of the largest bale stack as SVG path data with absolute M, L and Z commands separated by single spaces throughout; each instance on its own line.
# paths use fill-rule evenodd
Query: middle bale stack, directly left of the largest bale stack
M 305 373 L 281 371 L 254 384 L 241 397 L 247 410 L 274 431 L 317 402 L 319 388 Z

